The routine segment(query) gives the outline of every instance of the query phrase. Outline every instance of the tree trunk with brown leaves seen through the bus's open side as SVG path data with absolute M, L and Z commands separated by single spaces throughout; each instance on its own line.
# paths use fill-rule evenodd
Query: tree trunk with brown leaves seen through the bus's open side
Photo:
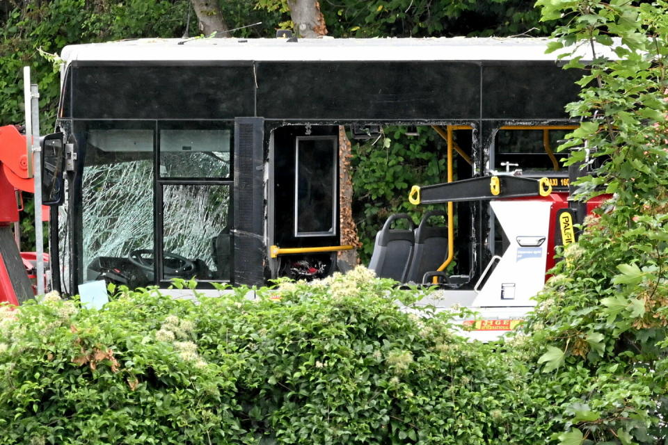
M 339 127 L 339 202 L 341 229 L 341 244 L 353 245 L 360 248 L 360 238 L 357 236 L 357 225 L 353 220 L 353 181 L 350 176 L 350 141 L 346 136 L 346 128 Z M 349 266 L 357 265 L 357 251 L 343 250 L 339 252 L 339 259 L 345 261 Z

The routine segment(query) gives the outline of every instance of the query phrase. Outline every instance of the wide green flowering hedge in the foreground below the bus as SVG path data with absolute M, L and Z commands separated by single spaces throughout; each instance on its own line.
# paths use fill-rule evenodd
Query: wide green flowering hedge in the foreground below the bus
M 364 268 L 255 292 L 3 307 L 0 443 L 535 444 L 552 431 L 519 356 L 466 341 L 452 314 L 414 304 L 421 292 Z

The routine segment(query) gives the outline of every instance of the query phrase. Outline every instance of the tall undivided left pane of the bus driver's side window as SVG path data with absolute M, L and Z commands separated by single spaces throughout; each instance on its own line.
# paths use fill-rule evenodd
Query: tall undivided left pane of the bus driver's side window
M 152 284 L 130 252 L 153 248 L 152 130 L 91 130 L 84 161 L 82 266 L 87 280 Z

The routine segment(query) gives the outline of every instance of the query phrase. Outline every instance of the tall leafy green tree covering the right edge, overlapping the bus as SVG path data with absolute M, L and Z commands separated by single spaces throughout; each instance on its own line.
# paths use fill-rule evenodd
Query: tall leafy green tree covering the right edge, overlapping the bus
M 568 17 L 552 50 L 596 49 L 586 66 L 567 65 L 587 72 L 567 107 L 584 122 L 561 149 L 573 149 L 566 164 L 600 164 L 575 184 L 576 199 L 606 196 L 537 297 L 527 353 L 539 350 L 546 375 L 570 382 L 560 444 L 665 444 L 668 2 L 536 4 L 544 20 Z

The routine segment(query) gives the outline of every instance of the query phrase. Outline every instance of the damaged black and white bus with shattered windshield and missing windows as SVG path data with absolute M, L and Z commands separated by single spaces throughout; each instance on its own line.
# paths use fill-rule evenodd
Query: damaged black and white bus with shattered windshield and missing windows
M 339 227 L 340 128 L 369 138 L 405 125 L 443 136 L 443 182 L 452 184 L 413 188 L 411 200 L 442 204 L 443 218 L 403 228 L 394 226 L 403 216 L 390 218 L 372 268 L 400 282 L 439 281 L 452 302 L 530 307 L 554 261 L 556 213 L 568 207 L 566 155 L 555 147 L 578 126 L 564 106 L 582 75 L 545 54 L 547 43 L 219 38 L 65 47 L 63 148 L 51 160 L 62 168 L 45 197 L 57 221 L 54 287 L 74 294 L 90 280 L 168 286 L 174 277 L 195 277 L 202 288 L 259 285 L 300 277 L 301 266 L 326 276 L 337 252 L 352 247 Z

